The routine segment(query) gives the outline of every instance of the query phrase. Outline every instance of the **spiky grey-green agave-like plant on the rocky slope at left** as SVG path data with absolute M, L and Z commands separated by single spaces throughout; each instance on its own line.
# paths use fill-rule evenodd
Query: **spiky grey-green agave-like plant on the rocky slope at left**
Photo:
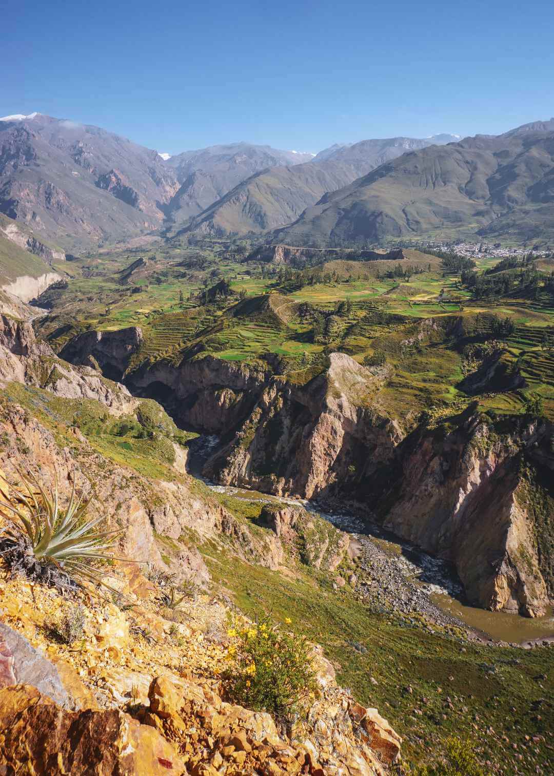
M 90 562 L 112 557 L 106 550 L 113 549 L 113 539 L 120 530 L 96 532 L 94 528 L 103 515 L 85 520 L 91 498 L 84 501 L 83 494 L 75 497 L 74 474 L 71 497 L 64 510 L 60 508 L 56 473 L 54 491 L 49 492 L 32 472 L 29 479 L 37 490 L 23 474 L 19 477 L 29 494 L 17 493 L 23 508 L 0 504 L 0 513 L 12 524 L 2 529 L 0 554 L 12 571 L 58 588 L 75 587 L 84 580 L 100 584 L 102 577 Z

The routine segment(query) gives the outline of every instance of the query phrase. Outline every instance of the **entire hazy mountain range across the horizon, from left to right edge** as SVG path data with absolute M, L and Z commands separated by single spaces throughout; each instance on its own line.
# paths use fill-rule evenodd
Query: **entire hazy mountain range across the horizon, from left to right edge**
M 315 157 L 248 143 L 167 160 L 95 126 L 0 120 L 0 213 L 70 251 L 141 234 L 257 234 L 291 244 L 554 234 L 554 120 L 494 137 L 395 137 Z M 516 234 L 517 233 L 517 234 Z

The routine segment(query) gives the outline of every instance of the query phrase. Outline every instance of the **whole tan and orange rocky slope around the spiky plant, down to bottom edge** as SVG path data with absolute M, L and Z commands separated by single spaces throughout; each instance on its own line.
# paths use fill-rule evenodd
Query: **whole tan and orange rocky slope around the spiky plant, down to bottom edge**
M 202 593 L 209 572 L 197 546 L 209 539 L 275 569 L 302 547 L 304 563 L 332 570 L 347 551 L 345 535 L 300 508 L 268 508 L 263 525 L 247 525 L 183 473 L 175 451 L 160 460 L 157 477 L 106 457 L 94 434 L 87 438 L 77 419 L 63 418 L 86 410 L 98 422 L 97 407 L 102 423 L 126 418 L 152 428 L 150 417 L 170 449 L 177 444 L 171 421 L 95 369 L 56 359 L 28 324 L 2 319 L 0 358 L 8 392 L 0 401 L 0 502 L 15 497 L 6 480 L 21 470 L 49 486 L 56 472 L 62 499 L 74 479 L 92 494 L 91 517 L 120 530 L 118 556 L 128 559 L 106 568 L 107 594 L 83 591 L 69 601 L 54 588 L 10 578 L 0 561 L 0 763 L 7 772 L 372 776 L 396 762 L 400 737 L 376 709 L 338 687 L 316 648 L 317 689 L 293 729 L 230 703 L 222 684 L 230 604 Z M 155 434 L 147 442 L 151 458 L 156 442 Z M 199 591 L 182 618 L 161 605 L 168 574 Z M 48 636 L 50 623 L 74 607 L 82 622 L 77 647 Z

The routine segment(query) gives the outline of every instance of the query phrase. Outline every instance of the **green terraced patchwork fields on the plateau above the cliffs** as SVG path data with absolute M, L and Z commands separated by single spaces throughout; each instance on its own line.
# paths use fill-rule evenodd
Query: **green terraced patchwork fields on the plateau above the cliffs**
M 143 344 L 127 371 L 205 353 L 227 361 L 273 355 L 296 381 L 317 374 L 331 350 L 358 362 L 381 351 L 388 378 L 374 400 L 410 421 L 423 409 L 469 400 L 458 387 L 469 340 L 464 345 L 445 334 L 428 341 L 420 336 L 421 322 L 493 315 L 513 321 L 499 346 L 506 368 L 517 366 L 525 384 L 483 391 L 483 406 L 520 412 L 538 400 L 554 415 L 552 297 L 476 299 L 458 273 L 443 271 L 441 259 L 420 251 L 405 255 L 400 270 L 389 260 L 336 260 L 298 271 L 244 263 L 217 241 L 203 248 L 150 244 L 68 262 L 68 288 L 43 295 L 41 303 L 51 310 L 36 327 L 55 349 L 87 328 L 140 327 Z M 476 258 L 478 273 L 493 265 L 490 258 Z M 317 325 L 325 331 L 317 334 Z

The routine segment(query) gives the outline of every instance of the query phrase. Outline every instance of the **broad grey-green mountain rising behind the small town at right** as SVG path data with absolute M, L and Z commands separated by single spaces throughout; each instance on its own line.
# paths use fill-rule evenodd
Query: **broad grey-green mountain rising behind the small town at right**
M 554 239 L 554 120 L 403 154 L 325 194 L 270 239 L 377 242 L 460 228 Z

